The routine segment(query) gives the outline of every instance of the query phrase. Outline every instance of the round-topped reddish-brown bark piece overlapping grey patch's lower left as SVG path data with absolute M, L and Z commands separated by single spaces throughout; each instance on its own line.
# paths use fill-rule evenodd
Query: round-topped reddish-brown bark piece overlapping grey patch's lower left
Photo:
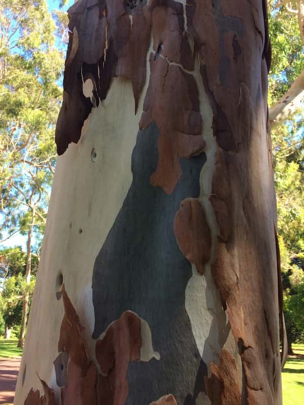
M 124 405 L 129 391 L 128 366 L 140 360 L 140 347 L 140 319 L 131 311 L 124 312 L 97 341 L 96 358 L 105 376 L 99 380 L 98 392 L 104 403 Z

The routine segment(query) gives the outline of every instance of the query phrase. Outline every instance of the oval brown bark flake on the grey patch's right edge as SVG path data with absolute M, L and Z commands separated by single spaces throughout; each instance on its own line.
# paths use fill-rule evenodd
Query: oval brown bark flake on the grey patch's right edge
M 204 264 L 210 260 L 211 234 L 200 202 L 187 198 L 180 203 L 173 223 L 174 235 L 183 255 L 204 274 Z

